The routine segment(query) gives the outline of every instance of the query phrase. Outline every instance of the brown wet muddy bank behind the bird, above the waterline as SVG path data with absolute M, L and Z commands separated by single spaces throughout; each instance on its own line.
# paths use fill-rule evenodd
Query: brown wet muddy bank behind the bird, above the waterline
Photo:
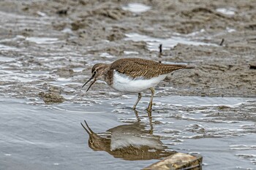
M 159 87 L 173 87 L 166 95 L 256 94 L 256 70 L 249 69 L 256 61 L 254 1 L 138 1 L 137 8 L 147 7 L 143 12 L 128 1 L 0 3 L 4 96 L 38 97 L 43 83 L 61 78 L 67 93 L 78 94 L 94 63 L 128 57 L 196 66 L 162 82 Z M 177 38 L 182 41 L 165 41 Z M 161 58 L 150 39 L 162 43 Z M 18 79 L 7 78 L 14 73 Z M 109 91 L 99 84 L 91 93 Z

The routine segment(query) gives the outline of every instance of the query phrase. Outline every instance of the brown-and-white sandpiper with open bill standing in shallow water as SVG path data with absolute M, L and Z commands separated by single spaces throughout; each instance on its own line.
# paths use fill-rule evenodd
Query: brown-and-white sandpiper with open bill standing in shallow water
M 125 93 L 138 93 L 138 99 L 132 109 L 135 109 L 141 98 L 143 90 L 151 90 L 151 99 L 148 111 L 152 109 L 154 87 L 167 77 L 167 74 L 178 69 L 192 69 L 192 66 L 181 64 L 163 64 L 141 58 L 122 58 L 113 63 L 97 63 L 91 69 L 91 85 L 97 80 L 104 80 L 115 90 Z M 86 90 L 86 92 L 91 88 Z M 83 87 L 82 87 L 83 88 Z

